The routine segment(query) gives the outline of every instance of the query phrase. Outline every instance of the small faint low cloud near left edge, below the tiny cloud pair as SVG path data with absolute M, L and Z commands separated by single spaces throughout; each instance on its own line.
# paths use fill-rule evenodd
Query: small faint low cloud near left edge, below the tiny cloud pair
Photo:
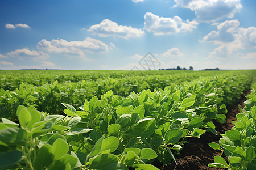
M 6 53 L 6 56 L 18 57 L 19 59 L 24 59 L 24 57 L 31 57 L 33 60 L 46 59 L 49 57 L 48 54 L 42 51 L 29 50 L 28 48 L 16 49 Z

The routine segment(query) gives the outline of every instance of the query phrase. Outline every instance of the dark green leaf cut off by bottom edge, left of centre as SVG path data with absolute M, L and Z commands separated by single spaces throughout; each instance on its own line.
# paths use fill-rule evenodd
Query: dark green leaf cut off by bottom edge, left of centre
M 104 169 L 107 165 L 118 162 L 118 157 L 113 154 L 101 154 L 90 159 L 90 169 Z

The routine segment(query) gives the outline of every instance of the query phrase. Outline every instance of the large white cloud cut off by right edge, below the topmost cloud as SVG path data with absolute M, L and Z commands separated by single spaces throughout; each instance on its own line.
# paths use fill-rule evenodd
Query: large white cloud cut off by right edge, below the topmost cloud
M 219 44 L 216 49 L 210 52 L 210 57 L 227 57 L 238 52 L 256 48 L 256 28 L 239 27 L 238 20 L 229 20 L 217 25 L 217 31 L 206 35 L 201 42 L 214 42 Z

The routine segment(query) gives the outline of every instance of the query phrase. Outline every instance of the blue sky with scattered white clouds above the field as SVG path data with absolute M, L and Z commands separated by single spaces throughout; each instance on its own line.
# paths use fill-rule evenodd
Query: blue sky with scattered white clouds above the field
M 0 1 L 0 69 L 256 69 L 255 0 Z

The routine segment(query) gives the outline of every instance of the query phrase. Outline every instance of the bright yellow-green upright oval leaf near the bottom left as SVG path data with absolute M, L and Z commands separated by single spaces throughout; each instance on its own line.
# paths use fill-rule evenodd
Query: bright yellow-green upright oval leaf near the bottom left
M 54 159 L 58 160 L 68 153 L 68 143 L 64 139 L 56 139 L 56 141 L 52 144 L 52 151 Z

